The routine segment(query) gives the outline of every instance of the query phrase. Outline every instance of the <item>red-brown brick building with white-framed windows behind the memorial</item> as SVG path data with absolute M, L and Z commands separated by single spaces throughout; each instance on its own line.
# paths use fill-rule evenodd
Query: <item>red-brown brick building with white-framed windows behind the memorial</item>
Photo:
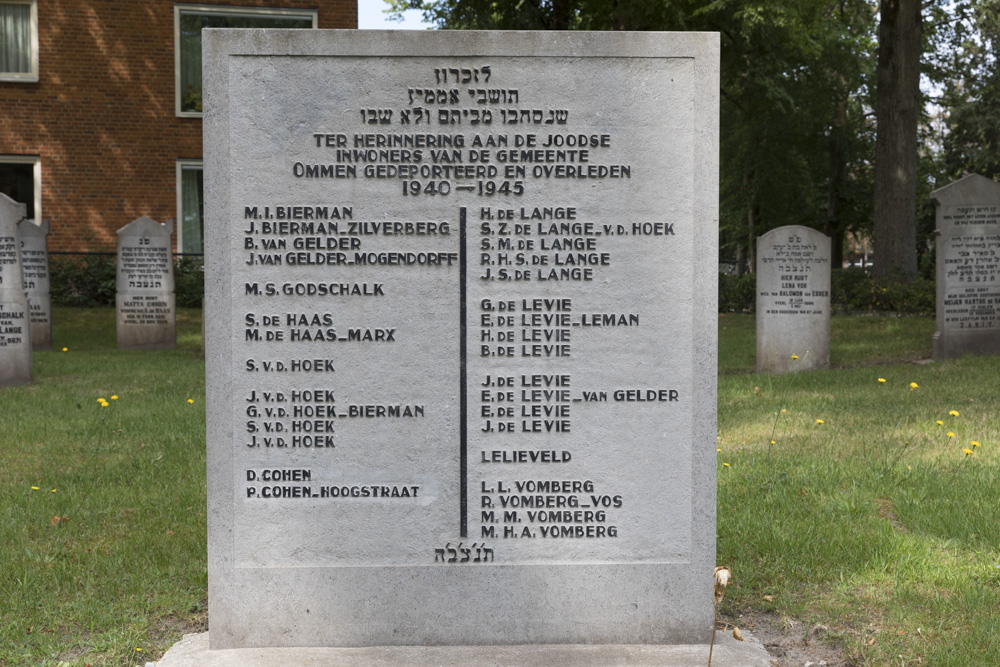
M 204 26 L 356 28 L 357 0 L 0 0 L 0 192 L 50 250 L 147 215 L 201 252 Z

